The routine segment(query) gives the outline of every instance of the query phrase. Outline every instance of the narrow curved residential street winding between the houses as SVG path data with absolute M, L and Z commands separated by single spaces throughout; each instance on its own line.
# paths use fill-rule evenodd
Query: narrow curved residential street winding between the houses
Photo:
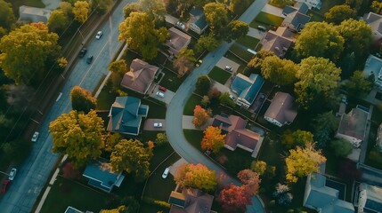
M 267 3 L 267 0 L 256 0 L 251 4 L 247 11 L 243 13 L 239 20 L 250 23 L 255 19 L 256 15 L 263 9 L 264 5 Z M 215 170 L 216 173 L 223 173 L 219 166 L 214 162 L 211 162 L 204 154 L 201 154 L 196 148 L 191 146 L 188 143 L 186 138 L 184 138 L 183 127 L 182 127 L 182 116 L 183 108 L 186 105 L 187 100 L 191 97 L 192 91 L 195 89 L 195 83 L 199 75 L 207 75 L 209 70 L 215 67 L 215 64 L 219 59 L 224 56 L 224 53 L 228 51 L 232 43 L 223 43 L 220 47 L 207 54 L 203 59 L 203 63 L 195 68 L 191 75 L 189 75 L 183 84 L 176 91 L 174 98 L 171 100 L 170 104 L 167 107 L 166 114 L 166 123 L 167 123 L 167 138 L 175 149 L 176 153 L 181 155 L 187 162 L 191 163 L 202 163 L 207 166 L 210 170 Z M 235 185 L 240 185 L 240 183 L 229 177 L 225 174 L 225 184 L 234 183 Z M 257 197 L 253 199 L 253 212 L 264 212 L 264 208 L 261 204 L 261 201 Z M 249 210 L 249 209 L 248 209 Z

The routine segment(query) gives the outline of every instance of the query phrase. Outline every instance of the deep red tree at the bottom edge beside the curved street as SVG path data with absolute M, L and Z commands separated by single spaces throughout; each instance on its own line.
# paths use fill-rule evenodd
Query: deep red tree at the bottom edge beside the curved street
M 251 197 L 248 185 L 230 185 L 220 192 L 218 201 L 224 212 L 245 212 L 246 206 L 252 203 Z

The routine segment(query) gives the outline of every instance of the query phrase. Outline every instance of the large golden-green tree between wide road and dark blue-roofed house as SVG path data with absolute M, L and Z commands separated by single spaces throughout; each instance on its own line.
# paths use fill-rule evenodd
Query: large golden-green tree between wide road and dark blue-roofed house
M 76 166 L 83 166 L 101 155 L 102 118 L 95 111 L 78 114 L 76 110 L 61 114 L 49 124 L 53 153 L 68 154 Z

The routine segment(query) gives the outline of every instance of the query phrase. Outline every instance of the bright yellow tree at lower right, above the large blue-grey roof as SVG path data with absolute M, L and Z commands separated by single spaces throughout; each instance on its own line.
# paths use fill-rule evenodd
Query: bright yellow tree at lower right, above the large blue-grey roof
M 313 143 L 308 143 L 304 148 L 297 146 L 289 150 L 285 159 L 287 164 L 286 178 L 289 182 L 296 183 L 298 177 L 305 177 L 314 171 L 320 170 L 320 164 L 326 162 L 321 150 L 315 150 Z

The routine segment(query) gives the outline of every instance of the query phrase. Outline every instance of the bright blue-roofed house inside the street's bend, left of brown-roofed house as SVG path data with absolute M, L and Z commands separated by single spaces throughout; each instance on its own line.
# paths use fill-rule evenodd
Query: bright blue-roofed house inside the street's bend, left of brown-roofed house
M 251 106 L 263 84 L 264 79 L 260 75 L 236 75 L 231 84 L 231 91 L 238 96 L 236 104 L 246 108 Z

